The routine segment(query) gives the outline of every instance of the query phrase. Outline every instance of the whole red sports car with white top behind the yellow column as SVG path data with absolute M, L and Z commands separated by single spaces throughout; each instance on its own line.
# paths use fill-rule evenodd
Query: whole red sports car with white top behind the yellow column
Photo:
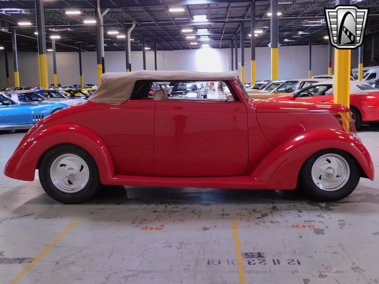
M 333 103 L 334 81 L 327 80 L 312 86 L 270 100 L 312 101 Z M 356 128 L 362 122 L 374 123 L 379 120 L 379 90 L 362 81 L 350 81 L 350 111 Z

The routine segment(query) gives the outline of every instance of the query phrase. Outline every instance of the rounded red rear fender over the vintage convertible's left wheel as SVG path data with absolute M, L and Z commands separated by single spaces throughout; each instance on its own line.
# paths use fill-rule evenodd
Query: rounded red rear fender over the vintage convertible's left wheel
M 39 159 L 45 151 L 59 144 L 74 144 L 94 158 L 102 184 L 112 184 L 114 166 L 110 151 L 92 130 L 71 123 L 50 126 L 19 145 L 7 162 L 4 174 L 10 178 L 33 181 Z

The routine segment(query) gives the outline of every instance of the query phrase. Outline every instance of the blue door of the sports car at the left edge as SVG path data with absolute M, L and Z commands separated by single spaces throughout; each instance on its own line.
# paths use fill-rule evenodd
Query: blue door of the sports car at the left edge
M 29 112 L 22 105 L 11 102 L 3 95 L 0 95 L 0 124 L 23 124 L 28 123 Z

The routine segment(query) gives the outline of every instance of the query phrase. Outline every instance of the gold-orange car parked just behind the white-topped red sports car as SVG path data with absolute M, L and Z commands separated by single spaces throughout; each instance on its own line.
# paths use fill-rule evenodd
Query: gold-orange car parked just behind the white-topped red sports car
M 249 94 L 250 98 L 254 98 L 255 100 L 266 100 L 268 98 L 289 95 L 294 91 L 322 81 L 325 81 L 325 79 L 275 80 L 268 83 L 262 90 L 248 91 L 247 94 Z

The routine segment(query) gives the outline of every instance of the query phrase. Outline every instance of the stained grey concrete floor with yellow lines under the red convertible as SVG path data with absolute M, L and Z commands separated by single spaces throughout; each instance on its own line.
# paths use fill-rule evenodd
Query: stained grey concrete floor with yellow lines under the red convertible
M 125 186 L 63 205 L 38 179 L 3 175 L 24 134 L 0 134 L 2 284 L 240 284 L 241 275 L 260 284 L 379 283 L 379 128 L 359 133 L 375 181 L 362 178 L 332 203 L 294 191 Z

